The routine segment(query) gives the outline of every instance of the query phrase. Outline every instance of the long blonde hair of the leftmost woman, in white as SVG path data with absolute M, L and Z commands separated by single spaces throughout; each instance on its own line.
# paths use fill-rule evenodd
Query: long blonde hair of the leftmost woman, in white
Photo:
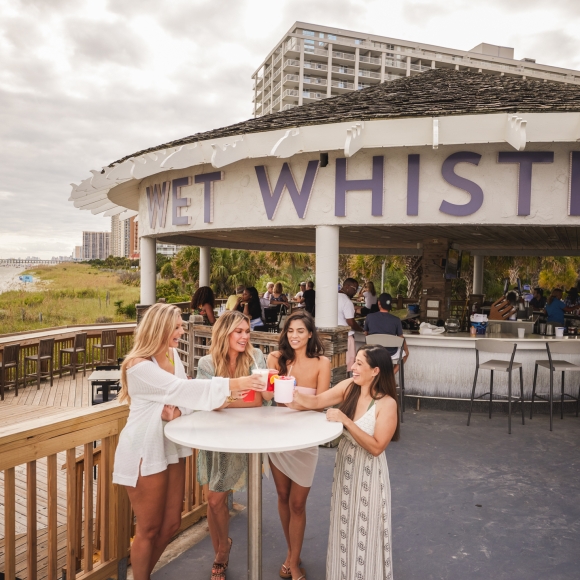
M 167 347 L 169 337 L 175 331 L 175 324 L 181 318 L 181 310 L 173 304 L 153 304 L 147 309 L 143 320 L 135 329 L 135 342 L 121 365 L 121 390 L 117 399 L 121 403 L 131 403 L 127 385 L 127 368 L 136 358 L 151 358 Z

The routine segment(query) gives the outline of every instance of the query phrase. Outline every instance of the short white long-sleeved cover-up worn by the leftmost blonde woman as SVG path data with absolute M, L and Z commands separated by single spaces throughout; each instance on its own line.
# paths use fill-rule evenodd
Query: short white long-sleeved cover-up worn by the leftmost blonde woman
M 230 394 L 229 379 L 187 380 L 175 349 L 173 360 L 175 375 L 153 361 L 140 362 L 127 369 L 131 405 L 115 452 L 113 483 L 135 487 L 139 465 L 141 475 L 152 475 L 191 455 L 190 448 L 165 437 L 165 421 L 161 420 L 164 405 L 179 406 L 182 414 L 193 410 L 211 411 L 221 407 Z

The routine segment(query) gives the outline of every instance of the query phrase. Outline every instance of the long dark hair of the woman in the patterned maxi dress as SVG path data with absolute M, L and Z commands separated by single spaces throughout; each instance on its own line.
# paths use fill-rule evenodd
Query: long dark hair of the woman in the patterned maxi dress
M 371 368 L 379 367 L 379 374 L 374 378 L 371 384 L 371 397 L 378 401 L 385 395 L 392 397 L 397 403 L 397 428 L 391 441 L 399 440 L 399 398 L 397 397 L 397 382 L 395 381 L 395 373 L 393 372 L 393 360 L 389 351 L 382 347 L 372 344 L 361 346 L 358 352 L 364 351 L 367 363 Z M 354 420 L 356 413 L 356 406 L 360 397 L 360 385 L 354 381 L 348 386 L 346 397 L 340 405 L 339 409 L 351 420 Z

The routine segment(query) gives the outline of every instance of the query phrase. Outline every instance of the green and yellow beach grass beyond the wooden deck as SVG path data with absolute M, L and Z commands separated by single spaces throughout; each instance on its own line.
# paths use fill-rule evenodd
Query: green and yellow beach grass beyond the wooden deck
M 139 301 L 139 288 L 122 284 L 119 273 L 88 264 L 38 266 L 28 290 L 0 294 L 0 334 L 53 326 L 126 322 L 115 302 Z

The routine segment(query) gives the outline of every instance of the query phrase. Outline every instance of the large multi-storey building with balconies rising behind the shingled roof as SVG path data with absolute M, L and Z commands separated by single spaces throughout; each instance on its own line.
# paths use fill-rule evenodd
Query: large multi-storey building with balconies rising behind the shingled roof
M 580 71 L 515 60 L 514 49 L 505 46 L 455 50 L 296 22 L 252 75 L 254 117 L 433 68 L 580 84 Z

